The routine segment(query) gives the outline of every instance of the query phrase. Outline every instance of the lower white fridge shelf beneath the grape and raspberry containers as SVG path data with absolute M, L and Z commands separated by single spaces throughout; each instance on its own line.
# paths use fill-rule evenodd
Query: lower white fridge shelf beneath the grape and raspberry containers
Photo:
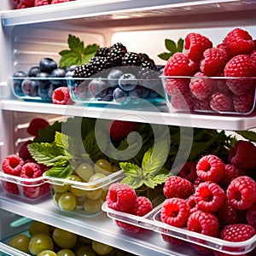
M 86 236 L 92 240 L 102 241 L 113 247 L 119 247 L 136 255 L 154 256 L 195 256 L 190 247 L 169 246 L 161 240 L 159 234 L 148 231 L 146 234 L 131 234 L 122 231 L 117 227 L 106 213 L 95 218 L 81 216 L 70 217 L 62 214 L 51 200 L 28 204 L 22 201 L 15 201 L 6 195 L 0 195 L 1 209 L 15 214 L 26 216 L 44 223 L 69 230 L 80 236 Z

